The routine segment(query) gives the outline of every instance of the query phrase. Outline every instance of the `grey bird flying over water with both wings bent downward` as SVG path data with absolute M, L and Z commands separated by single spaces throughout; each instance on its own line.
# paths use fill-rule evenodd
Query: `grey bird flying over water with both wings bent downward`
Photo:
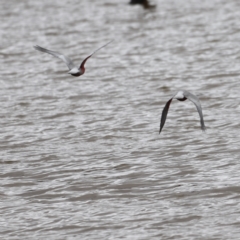
M 201 129 L 204 131 L 206 129 L 206 127 L 204 125 L 202 107 L 201 107 L 199 99 L 197 98 L 197 96 L 193 95 L 192 93 L 190 93 L 188 91 L 179 91 L 170 100 L 168 100 L 168 102 L 166 103 L 166 105 L 162 111 L 159 134 L 161 133 L 161 131 L 163 129 L 163 126 L 164 126 L 166 118 L 167 118 L 168 109 L 174 98 L 177 99 L 178 101 L 185 101 L 185 100 L 189 99 L 191 102 L 193 102 L 195 104 L 198 114 L 200 116 Z

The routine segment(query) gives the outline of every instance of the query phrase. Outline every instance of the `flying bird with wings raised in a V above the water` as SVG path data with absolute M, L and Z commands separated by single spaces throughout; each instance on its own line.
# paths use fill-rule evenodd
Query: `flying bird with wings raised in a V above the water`
M 113 40 L 112 40 L 113 41 Z M 64 56 L 62 53 L 60 52 L 55 52 L 55 51 L 51 51 L 48 50 L 46 48 L 40 47 L 38 45 L 34 46 L 34 48 L 40 52 L 45 52 L 48 54 L 53 55 L 56 58 L 60 58 L 61 60 L 63 60 L 65 62 L 65 64 L 67 65 L 68 69 L 69 69 L 69 74 L 71 74 L 72 76 L 78 77 L 84 74 L 85 72 L 85 67 L 84 64 L 86 63 L 86 61 L 97 51 L 99 51 L 101 48 L 107 46 L 109 43 L 111 43 L 112 41 L 108 42 L 107 44 L 101 46 L 100 48 L 98 48 L 97 50 L 95 50 L 92 54 L 90 54 L 89 56 L 87 56 L 81 63 L 81 65 L 79 67 L 77 67 L 70 58 L 68 58 L 67 56 Z

